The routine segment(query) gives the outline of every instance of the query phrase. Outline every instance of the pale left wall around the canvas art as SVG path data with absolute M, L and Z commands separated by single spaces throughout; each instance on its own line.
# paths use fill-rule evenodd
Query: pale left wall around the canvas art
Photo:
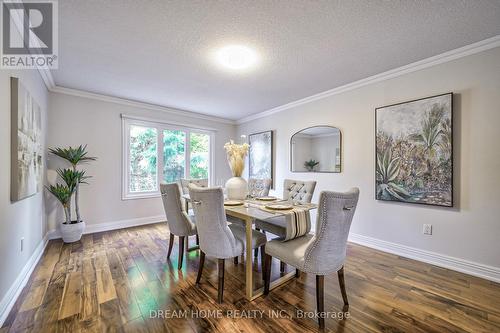
M 47 133 L 48 92 L 38 72 L 0 70 L 0 315 L 4 310 L 2 306 L 10 301 L 6 299 L 9 297 L 7 291 L 13 286 L 35 249 L 41 245 L 47 231 L 43 192 L 21 201 L 10 201 L 11 76 L 18 77 L 40 105 L 42 132 L 44 135 Z M 45 136 L 43 140 L 45 147 Z M 21 237 L 24 237 L 22 252 Z

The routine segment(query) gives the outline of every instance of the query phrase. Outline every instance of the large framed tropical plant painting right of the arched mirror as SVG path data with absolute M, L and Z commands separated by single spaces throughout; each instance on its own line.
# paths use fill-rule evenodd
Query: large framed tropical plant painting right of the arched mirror
M 452 97 L 375 110 L 378 200 L 453 206 Z

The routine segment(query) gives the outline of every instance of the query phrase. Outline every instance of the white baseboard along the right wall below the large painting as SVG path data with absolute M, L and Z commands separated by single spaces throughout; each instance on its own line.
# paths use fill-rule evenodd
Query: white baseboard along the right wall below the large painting
M 405 258 L 423 261 L 428 264 L 448 268 L 454 271 L 477 276 L 494 282 L 500 282 L 500 268 L 488 266 L 464 259 L 450 257 L 436 252 L 417 249 L 414 247 L 391 243 L 380 239 L 350 233 L 349 241 L 374 248 L 380 251 L 389 252 Z

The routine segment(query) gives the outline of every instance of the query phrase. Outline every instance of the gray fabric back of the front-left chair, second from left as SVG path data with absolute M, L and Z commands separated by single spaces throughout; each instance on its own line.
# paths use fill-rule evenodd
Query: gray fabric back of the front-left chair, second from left
M 194 208 L 200 249 L 206 255 L 219 259 L 240 255 L 241 247 L 237 247 L 227 224 L 222 188 L 190 185 L 189 196 Z

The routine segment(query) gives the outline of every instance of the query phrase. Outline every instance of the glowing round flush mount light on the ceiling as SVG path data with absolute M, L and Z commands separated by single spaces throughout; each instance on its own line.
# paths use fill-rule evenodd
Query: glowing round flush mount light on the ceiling
M 216 61 L 223 67 L 243 71 L 257 64 L 257 53 L 244 45 L 228 45 L 217 50 Z

